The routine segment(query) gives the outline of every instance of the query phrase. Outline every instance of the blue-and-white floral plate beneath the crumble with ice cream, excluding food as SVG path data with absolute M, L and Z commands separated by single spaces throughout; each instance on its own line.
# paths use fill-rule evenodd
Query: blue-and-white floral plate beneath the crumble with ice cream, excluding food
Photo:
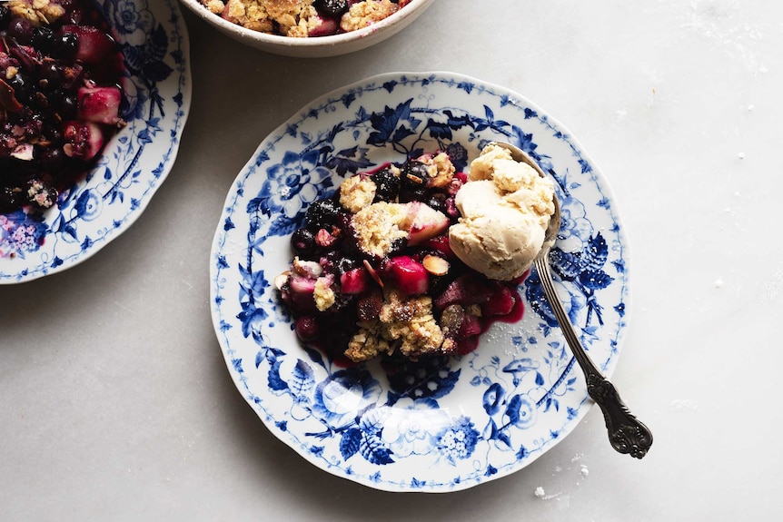
M 533 271 L 519 323 L 461 358 L 387 375 L 302 347 L 271 284 L 307 205 L 342 178 L 421 151 L 465 168 L 492 140 L 557 181 L 558 286 L 590 356 L 610 374 L 628 320 L 627 241 L 610 188 L 568 131 L 520 94 L 450 73 L 382 74 L 310 103 L 261 143 L 213 242 L 214 328 L 233 380 L 266 426 L 334 475 L 389 491 L 471 488 L 524 468 L 592 404 Z M 597 432 L 596 437 L 605 437 Z

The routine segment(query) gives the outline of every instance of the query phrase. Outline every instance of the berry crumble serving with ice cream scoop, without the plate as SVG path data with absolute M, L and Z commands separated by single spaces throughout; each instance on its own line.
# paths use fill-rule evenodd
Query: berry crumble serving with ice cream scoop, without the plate
M 455 172 L 425 153 L 344 180 L 313 202 L 275 280 L 297 337 L 335 359 L 464 354 L 519 320 L 553 184 L 488 146 Z

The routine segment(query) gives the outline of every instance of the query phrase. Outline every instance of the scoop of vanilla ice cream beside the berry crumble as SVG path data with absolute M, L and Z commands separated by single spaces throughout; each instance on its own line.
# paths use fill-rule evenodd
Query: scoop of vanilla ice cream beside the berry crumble
M 543 245 L 554 184 L 497 145 L 473 160 L 469 179 L 454 201 L 461 218 L 449 230 L 451 250 L 491 279 L 520 277 Z

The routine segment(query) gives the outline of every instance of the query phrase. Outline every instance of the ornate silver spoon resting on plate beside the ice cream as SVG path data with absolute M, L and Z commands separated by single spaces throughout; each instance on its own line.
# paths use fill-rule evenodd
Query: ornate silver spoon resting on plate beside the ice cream
M 547 177 L 547 174 L 541 170 L 539 164 L 519 147 L 515 147 L 510 143 L 493 142 L 493 144 L 510 151 L 514 161 L 528 163 L 542 178 Z M 595 400 L 603 412 L 612 448 L 615 448 L 619 453 L 629 453 L 631 457 L 643 458 L 647 455 L 649 447 L 652 446 L 652 432 L 630 412 L 622 399 L 619 398 L 617 389 L 601 373 L 600 369 L 582 348 L 579 337 L 577 337 L 576 331 L 573 325 L 571 325 L 568 314 L 563 310 L 562 303 L 552 284 L 549 253 L 557 238 L 558 231 L 560 231 L 560 202 L 558 202 L 557 194 L 554 196 L 554 203 L 555 212 L 552 214 L 550 224 L 544 235 L 543 247 L 534 261 L 536 270 L 539 272 L 541 285 L 544 288 L 547 300 L 550 302 L 550 307 L 560 324 L 560 330 L 562 330 L 566 342 L 568 342 L 574 357 L 584 372 L 588 395 Z

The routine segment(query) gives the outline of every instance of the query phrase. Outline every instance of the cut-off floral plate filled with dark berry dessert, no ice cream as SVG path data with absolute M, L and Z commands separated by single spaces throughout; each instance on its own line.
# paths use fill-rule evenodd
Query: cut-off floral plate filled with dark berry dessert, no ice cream
M 0 283 L 62 271 L 127 229 L 189 104 L 173 0 L 0 3 Z

